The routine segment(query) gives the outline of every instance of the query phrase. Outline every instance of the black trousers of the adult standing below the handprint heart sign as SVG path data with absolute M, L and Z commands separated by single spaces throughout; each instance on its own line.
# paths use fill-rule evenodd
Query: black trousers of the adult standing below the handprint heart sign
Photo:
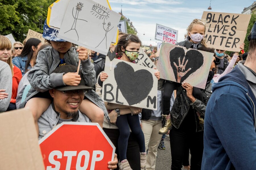
M 188 113 L 189 114 L 189 113 Z M 193 122 L 193 123 L 191 123 Z M 170 145 L 172 155 L 172 170 L 182 168 L 182 164 L 189 165 L 188 148 L 191 152 L 191 169 L 201 170 L 203 158 L 203 131 L 196 132 L 194 114 L 186 115 L 179 129 L 175 127 L 170 131 Z

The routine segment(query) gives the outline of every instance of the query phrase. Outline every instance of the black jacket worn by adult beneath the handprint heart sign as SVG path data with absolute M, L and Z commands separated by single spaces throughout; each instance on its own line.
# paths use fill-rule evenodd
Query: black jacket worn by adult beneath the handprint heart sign
M 204 119 L 206 105 L 212 94 L 212 84 L 207 84 L 205 90 L 201 90 L 201 92 L 203 95 L 204 102 L 200 101 L 199 99 L 196 99 L 195 102 L 192 103 L 191 100 L 187 97 L 187 91 L 181 85 L 177 87 L 176 99 L 171 110 L 172 125 L 175 128 L 179 128 L 183 119 L 185 118 L 189 111 L 189 106 L 191 105 L 195 112 L 194 116 L 197 125 L 196 131 L 198 132 L 204 130 L 204 126 L 202 124 L 199 124 L 197 114 L 199 114 L 201 118 Z

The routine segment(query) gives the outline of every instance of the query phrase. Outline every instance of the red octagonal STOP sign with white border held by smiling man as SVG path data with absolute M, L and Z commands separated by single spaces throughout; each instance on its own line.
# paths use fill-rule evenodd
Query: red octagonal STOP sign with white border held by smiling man
M 115 146 L 96 123 L 62 122 L 40 141 L 47 170 L 107 170 Z

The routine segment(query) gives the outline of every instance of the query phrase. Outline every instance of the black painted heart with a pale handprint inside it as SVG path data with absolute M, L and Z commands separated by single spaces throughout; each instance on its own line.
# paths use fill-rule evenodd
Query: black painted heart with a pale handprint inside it
M 197 71 L 204 62 L 203 54 L 197 50 L 185 51 L 181 47 L 175 47 L 170 51 L 170 64 L 174 72 L 176 82 L 182 83 L 191 74 Z

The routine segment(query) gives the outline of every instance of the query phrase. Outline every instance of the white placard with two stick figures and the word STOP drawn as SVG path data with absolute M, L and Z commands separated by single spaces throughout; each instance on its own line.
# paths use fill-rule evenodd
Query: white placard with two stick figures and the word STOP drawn
M 69 2 L 58 37 L 107 55 L 121 15 L 92 0 Z

